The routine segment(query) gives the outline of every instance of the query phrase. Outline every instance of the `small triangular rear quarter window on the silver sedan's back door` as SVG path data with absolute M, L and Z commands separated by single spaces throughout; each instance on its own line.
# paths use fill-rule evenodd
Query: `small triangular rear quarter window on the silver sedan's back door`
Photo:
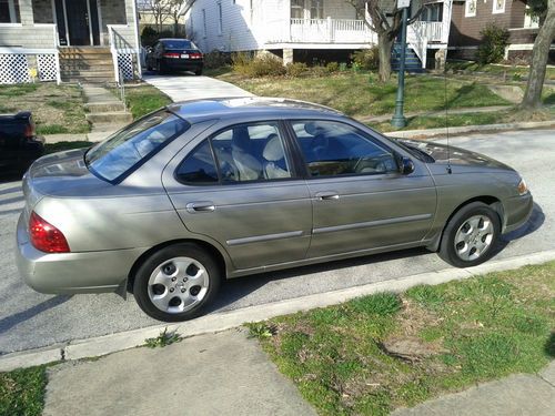
M 208 140 L 188 154 L 178 168 L 176 174 L 180 182 L 190 185 L 209 185 L 219 182 L 214 158 Z

